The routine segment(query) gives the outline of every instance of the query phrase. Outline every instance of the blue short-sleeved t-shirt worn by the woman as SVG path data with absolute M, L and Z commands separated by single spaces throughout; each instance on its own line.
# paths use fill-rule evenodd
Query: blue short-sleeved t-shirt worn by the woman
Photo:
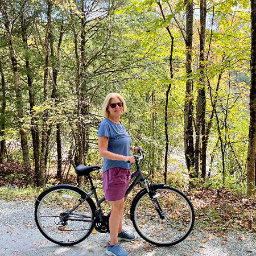
M 105 118 L 98 127 L 98 137 L 108 137 L 108 151 L 119 155 L 130 156 L 131 137 L 123 127 L 122 123 L 114 123 Z M 103 172 L 110 168 L 121 167 L 130 169 L 131 164 L 122 160 L 110 160 L 104 158 Z

